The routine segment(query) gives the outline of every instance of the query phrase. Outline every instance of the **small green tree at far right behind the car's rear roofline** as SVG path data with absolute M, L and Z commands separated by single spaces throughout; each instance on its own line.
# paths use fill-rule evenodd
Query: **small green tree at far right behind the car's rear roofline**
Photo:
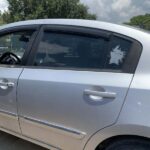
M 125 24 L 150 30 L 150 14 L 135 16 L 130 19 L 130 22 Z

